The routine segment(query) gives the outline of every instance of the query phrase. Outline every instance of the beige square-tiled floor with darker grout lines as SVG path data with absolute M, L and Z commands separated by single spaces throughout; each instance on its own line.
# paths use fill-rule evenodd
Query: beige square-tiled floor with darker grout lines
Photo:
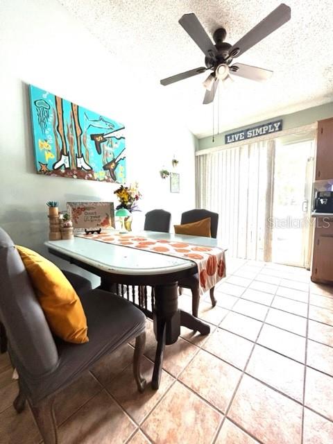
M 60 443 L 333 443 L 333 288 L 300 268 L 229 259 L 216 299 L 200 302 L 209 336 L 182 328 L 167 347 L 158 391 L 137 393 L 128 344 L 60 393 Z M 190 309 L 189 293 L 179 303 Z M 40 443 L 30 411 L 12 408 L 11 375 L 0 355 L 0 442 Z

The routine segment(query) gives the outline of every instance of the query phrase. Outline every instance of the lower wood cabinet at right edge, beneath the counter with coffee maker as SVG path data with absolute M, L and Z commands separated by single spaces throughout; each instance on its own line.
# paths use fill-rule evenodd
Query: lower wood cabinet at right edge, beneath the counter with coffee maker
M 333 218 L 316 218 L 311 280 L 333 282 Z

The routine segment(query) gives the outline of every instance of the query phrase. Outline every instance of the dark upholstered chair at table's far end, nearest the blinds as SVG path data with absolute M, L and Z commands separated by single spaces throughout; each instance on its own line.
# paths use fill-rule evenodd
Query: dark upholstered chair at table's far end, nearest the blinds
M 217 236 L 217 228 L 219 226 L 219 214 L 214 213 L 204 209 L 195 209 L 189 210 L 187 212 L 182 213 L 180 223 L 192 223 L 198 222 L 202 219 L 206 219 L 210 217 L 210 234 L 214 239 Z M 190 289 L 192 293 L 192 314 L 193 316 L 198 317 L 198 309 L 199 309 L 199 276 L 198 273 L 191 276 L 190 278 L 182 279 L 178 282 L 179 293 L 182 294 L 182 289 Z M 214 296 L 214 287 L 210 289 L 210 300 L 212 301 L 212 306 L 215 307 L 216 299 Z

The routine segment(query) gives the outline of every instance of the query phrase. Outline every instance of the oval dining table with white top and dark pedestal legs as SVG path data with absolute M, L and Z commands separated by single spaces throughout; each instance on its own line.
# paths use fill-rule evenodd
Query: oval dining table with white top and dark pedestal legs
M 219 241 L 209 237 L 153 231 L 135 234 L 148 239 L 223 248 Z M 178 308 L 178 280 L 198 273 L 198 266 L 190 259 L 108 244 L 89 239 L 88 236 L 46 241 L 45 246 L 49 253 L 98 275 L 101 289 L 127 298 L 153 319 L 157 347 L 152 388 L 157 389 L 160 385 L 164 348 L 178 340 L 181 326 L 203 335 L 210 333 L 209 325 Z M 147 287 L 153 288 L 151 307 L 148 306 Z M 135 291 L 135 288 L 139 291 Z

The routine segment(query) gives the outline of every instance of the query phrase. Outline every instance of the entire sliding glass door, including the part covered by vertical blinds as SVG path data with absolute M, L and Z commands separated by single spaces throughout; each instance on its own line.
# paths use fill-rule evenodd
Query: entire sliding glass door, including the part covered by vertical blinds
M 312 149 L 280 139 L 197 157 L 198 206 L 219 213 L 230 255 L 306 265 Z

